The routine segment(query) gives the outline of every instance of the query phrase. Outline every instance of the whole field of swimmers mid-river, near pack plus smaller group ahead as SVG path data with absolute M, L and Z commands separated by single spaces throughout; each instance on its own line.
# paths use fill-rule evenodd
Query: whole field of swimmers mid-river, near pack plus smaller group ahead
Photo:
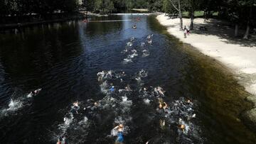
M 132 26 L 133 28 L 137 28 L 136 24 L 134 24 L 134 26 Z M 146 43 L 151 45 L 152 44 L 152 38 L 153 38 L 153 34 L 151 35 L 147 35 L 146 37 Z M 129 42 L 127 42 L 127 46 L 125 48 L 125 50 L 123 51 L 124 53 L 126 52 L 132 52 L 132 55 L 129 55 L 127 57 L 127 61 L 131 60 L 131 58 L 133 58 L 134 56 L 137 56 L 137 50 L 132 49 L 132 46 L 134 45 L 134 40 L 135 38 L 132 37 L 130 38 Z M 142 48 L 142 52 L 148 52 L 148 50 L 145 48 L 146 43 L 141 43 L 141 48 Z M 126 60 L 126 59 L 124 59 Z M 119 82 L 124 82 L 124 77 L 126 77 L 127 74 L 123 71 L 123 72 L 114 72 L 112 70 L 110 71 L 102 71 L 102 72 L 98 72 L 97 73 L 97 81 L 100 83 L 100 87 L 102 88 L 102 92 L 104 94 L 106 94 L 107 96 L 110 96 L 110 101 L 111 101 L 111 95 L 115 94 L 114 96 L 118 96 L 118 94 L 121 94 L 122 92 L 132 92 L 131 87 L 129 86 L 129 84 L 127 84 L 124 89 L 118 89 L 118 87 L 115 87 L 114 83 L 112 82 L 112 79 L 117 80 Z M 142 77 L 146 77 L 147 76 L 147 72 L 144 70 L 141 70 L 139 72 L 137 72 L 136 76 L 134 77 L 134 79 L 137 80 L 137 82 L 141 82 Z M 148 93 L 149 89 L 147 89 L 146 87 L 143 87 L 140 92 L 143 92 L 145 95 Z M 32 92 L 33 93 L 33 92 Z M 184 101 L 183 99 L 178 100 L 176 102 L 174 102 L 173 104 L 168 104 L 166 101 L 164 101 L 164 89 L 161 87 L 152 87 L 152 93 L 151 95 L 156 96 L 157 98 L 157 107 L 156 107 L 156 112 L 159 113 L 159 125 L 160 128 L 166 127 L 166 123 L 170 123 L 168 119 L 170 116 L 172 116 L 174 113 L 178 113 L 176 115 L 180 116 L 180 118 L 176 119 L 175 123 L 177 123 L 178 129 L 182 132 L 182 133 L 186 133 L 186 130 L 188 129 L 187 124 L 185 123 L 185 119 L 186 121 L 190 121 L 191 118 L 195 118 L 196 114 L 193 113 L 193 115 L 191 115 L 191 112 L 193 112 L 193 110 L 191 110 L 191 106 L 193 105 L 193 103 L 191 102 L 191 100 L 187 100 Z M 150 95 L 150 94 L 149 94 Z M 107 97 L 106 96 L 106 97 Z M 126 94 L 124 94 L 124 96 L 126 96 Z M 127 99 L 127 98 L 126 98 Z M 102 99 L 102 101 L 104 100 L 104 98 Z M 92 107 L 97 108 L 99 106 L 102 105 L 102 101 L 95 101 L 92 104 Z M 150 101 L 150 100 L 149 100 Z M 146 101 L 147 102 L 147 101 Z M 73 102 L 73 111 L 74 113 L 78 113 L 78 109 L 80 109 L 80 103 L 78 101 Z M 188 106 L 187 107 L 183 107 L 183 106 Z M 113 104 L 114 106 L 114 104 Z M 86 108 L 85 108 L 86 109 Z M 186 109 L 186 110 L 184 110 Z M 185 113 L 185 114 L 184 114 Z M 123 115 L 121 113 L 121 115 Z M 184 115 L 184 116 L 183 116 Z M 186 115 L 186 116 L 185 116 Z M 64 121 L 66 121 L 64 119 Z M 115 143 L 116 144 L 122 144 L 124 143 L 124 129 L 125 126 L 127 126 L 127 124 L 124 121 L 119 121 L 119 122 L 115 122 L 114 124 L 114 128 L 112 128 L 112 131 L 114 131 L 114 136 L 116 136 L 116 140 Z M 57 144 L 64 144 L 65 143 L 65 137 L 63 138 L 58 138 L 58 142 Z M 149 141 L 147 141 L 146 143 L 149 143 Z

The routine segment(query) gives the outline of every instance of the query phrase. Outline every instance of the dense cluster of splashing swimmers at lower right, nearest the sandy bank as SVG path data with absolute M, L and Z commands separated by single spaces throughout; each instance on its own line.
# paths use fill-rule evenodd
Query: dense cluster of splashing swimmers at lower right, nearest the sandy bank
M 185 98 L 180 97 L 180 99 L 168 103 L 164 100 L 165 91 L 161 87 L 143 87 L 139 92 L 139 96 L 144 99 L 145 104 L 156 105 L 157 119 L 159 119 L 161 130 L 177 128 L 178 135 L 181 137 L 193 136 L 193 131 L 197 131 L 196 127 L 193 126 L 193 118 L 196 118 L 196 113 L 193 111 L 194 104 L 190 99 L 185 100 Z M 154 101 L 154 104 L 151 104 L 151 101 Z

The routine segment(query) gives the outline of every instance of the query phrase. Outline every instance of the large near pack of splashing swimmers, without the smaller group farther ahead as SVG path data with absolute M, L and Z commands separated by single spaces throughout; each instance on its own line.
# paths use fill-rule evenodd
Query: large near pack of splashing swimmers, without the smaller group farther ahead
M 122 92 L 132 92 L 131 87 L 129 86 L 129 84 L 126 84 L 127 86 L 124 87 L 124 89 L 118 89 L 118 87 L 114 87 L 114 84 L 112 83 L 112 81 L 122 83 L 122 82 L 124 82 L 123 79 L 127 78 L 126 76 L 127 76 L 127 74 L 124 71 L 121 71 L 121 72 L 114 72 L 112 70 L 102 71 L 102 72 L 97 73 L 97 80 L 98 80 L 98 82 L 100 82 L 100 84 L 108 81 L 107 83 L 109 83 L 109 84 L 107 84 L 107 87 L 105 87 L 105 89 L 107 90 L 107 93 L 106 93 L 107 96 L 111 96 L 111 95 L 112 96 L 120 96 L 119 94 L 121 94 Z M 146 77 L 146 76 L 147 76 L 147 72 L 144 70 L 140 70 L 139 72 L 137 72 L 135 74 L 134 79 L 136 79 L 137 81 L 140 81 L 142 79 L 142 77 Z M 149 88 L 142 87 L 142 89 L 139 90 L 139 92 L 142 92 L 142 94 L 144 94 L 144 96 L 147 95 L 146 97 L 148 97 L 148 98 L 149 97 L 151 97 L 153 99 L 157 98 L 156 99 L 157 100 L 156 101 L 156 103 L 157 103 L 156 112 L 159 113 L 159 127 L 160 128 L 166 127 L 166 123 L 171 123 L 169 121 L 169 117 L 181 116 L 178 119 L 176 119 L 176 122 L 175 122 L 176 126 L 178 126 L 177 128 L 181 131 L 181 133 L 184 133 L 184 134 L 187 133 L 189 124 L 186 124 L 185 121 L 191 121 L 191 118 L 196 117 L 196 114 L 193 113 L 193 109 L 191 109 L 192 108 L 191 106 L 193 106 L 193 103 L 191 102 L 190 99 L 187 99 L 186 101 L 184 99 L 180 99 L 180 100 L 176 100 L 175 102 L 173 102 L 171 104 L 168 104 L 166 101 L 164 101 L 165 91 L 161 87 L 149 87 Z M 92 107 L 94 107 L 94 108 L 101 106 L 103 104 L 103 102 L 104 102 L 103 99 L 100 101 L 93 101 L 93 102 L 90 101 L 90 103 L 92 104 Z M 113 105 L 114 104 L 115 103 L 113 103 Z M 84 108 L 84 110 L 87 108 Z M 72 104 L 72 109 L 73 109 L 74 114 L 78 113 L 78 110 L 80 109 L 80 102 L 74 101 Z M 103 108 L 100 108 L 100 109 L 103 109 Z M 95 113 L 95 112 L 93 112 L 93 113 Z M 124 116 L 122 113 L 120 113 L 120 114 L 121 114 L 121 116 Z M 67 121 L 67 119 L 64 119 L 64 121 Z M 125 135 L 125 133 L 124 133 L 125 126 L 124 125 L 126 125 L 125 121 L 117 121 L 117 122 L 115 122 L 114 128 L 112 128 L 112 131 L 114 131 L 114 134 L 112 134 L 112 135 L 116 136 L 116 140 L 114 142 L 116 144 L 124 143 L 124 135 Z M 64 144 L 65 140 L 66 140 L 66 138 L 63 135 L 60 138 L 58 138 L 57 144 Z M 147 143 L 149 143 L 149 141 Z

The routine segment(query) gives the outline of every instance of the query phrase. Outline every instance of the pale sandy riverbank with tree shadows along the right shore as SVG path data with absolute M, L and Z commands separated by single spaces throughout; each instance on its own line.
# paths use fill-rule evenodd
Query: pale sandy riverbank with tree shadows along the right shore
M 183 43 L 188 43 L 200 50 L 203 54 L 213 57 L 227 66 L 235 74 L 238 82 L 245 87 L 252 96 L 247 100 L 254 103 L 254 109 L 247 111 L 245 117 L 256 125 L 256 42 L 255 37 L 250 40 L 233 38 L 233 29 L 228 23 L 203 18 L 194 20 L 195 30 L 187 38 L 180 31 L 179 19 L 171 19 L 164 14 L 156 17 L 161 25 L 166 26 L 167 31 L 179 38 Z M 183 18 L 183 26 L 189 26 L 190 19 Z M 205 26 L 207 31 L 199 31 Z M 241 32 L 242 33 L 242 32 Z

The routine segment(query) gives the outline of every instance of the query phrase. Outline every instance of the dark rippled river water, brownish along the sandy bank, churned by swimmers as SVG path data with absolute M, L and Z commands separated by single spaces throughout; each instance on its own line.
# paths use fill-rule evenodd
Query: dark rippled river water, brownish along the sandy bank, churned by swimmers
M 90 21 L 0 34 L 0 143 L 114 143 L 120 123 L 124 143 L 256 143 L 249 94 L 225 67 L 154 16 Z

